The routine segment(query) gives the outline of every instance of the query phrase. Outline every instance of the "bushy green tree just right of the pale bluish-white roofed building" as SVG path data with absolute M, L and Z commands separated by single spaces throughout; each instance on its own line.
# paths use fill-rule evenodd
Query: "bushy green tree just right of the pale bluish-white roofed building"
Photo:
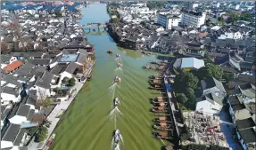
M 223 75 L 223 71 L 221 67 L 219 67 L 219 65 L 214 65 L 211 63 L 206 64 L 205 67 L 201 67 L 197 71 L 197 77 L 200 80 L 210 78 L 210 77 L 214 77 L 217 80 L 219 80 L 222 78 L 222 75 Z

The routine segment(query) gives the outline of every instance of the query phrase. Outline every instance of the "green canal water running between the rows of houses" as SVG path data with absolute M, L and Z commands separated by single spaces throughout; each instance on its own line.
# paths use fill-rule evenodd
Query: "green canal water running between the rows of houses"
M 109 20 L 106 4 L 90 4 L 82 10 L 81 24 L 104 23 Z M 95 27 L 96 28 L 96 27 Z M 120 130 L 124 145 L 120 150 L 158 150 L 163 143 L 152 135 L 150 98 L 158 96 L 148 90 L 148 76 L 155 72 L 142 67 L 155 60 L 155 56 L 143 56 L 140 51 L 123 50 L 116 46 L 106 33 L 87 36 L 95 44 L 96 63 L 92 80 L 79 91 L 77 98 L 62 116 L 55 133 L 54 150 L 111 150 L 113 131 Z M 113 55 L 107 54 L 108 50 Z M 122 71 L 115 71 L 120 53 Z M 113 78 L 119 75 L 121 82 L 112 90 Z M 112 101 L 120 99 L 121 114 L 111 119 Z

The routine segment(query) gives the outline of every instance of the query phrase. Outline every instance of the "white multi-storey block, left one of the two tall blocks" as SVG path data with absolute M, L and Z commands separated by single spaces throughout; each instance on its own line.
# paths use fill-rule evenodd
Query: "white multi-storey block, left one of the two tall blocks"
M 171 29 L 172 27 L 178 27 L 179 17 L 172 14 L 159 14 L 157 18 L 157 23 L 166 29 Z

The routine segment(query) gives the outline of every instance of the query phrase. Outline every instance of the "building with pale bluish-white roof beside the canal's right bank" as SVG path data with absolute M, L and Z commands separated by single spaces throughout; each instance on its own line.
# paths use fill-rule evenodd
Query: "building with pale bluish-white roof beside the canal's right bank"
M 180 68 L 185 71 L 190 71 L 192 69 L 199 69 L 201 67 L 204 67 L 204 61 L 202 59 L 196 58 L 181 58 L 176 59 L 173 67 Z

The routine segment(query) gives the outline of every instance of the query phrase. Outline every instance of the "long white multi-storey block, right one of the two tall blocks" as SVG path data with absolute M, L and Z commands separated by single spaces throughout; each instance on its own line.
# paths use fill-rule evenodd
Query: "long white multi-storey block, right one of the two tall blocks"
M 182 25 L 200 28 L 205 22 L 206 12 L 182 12 L 181 23 Z

